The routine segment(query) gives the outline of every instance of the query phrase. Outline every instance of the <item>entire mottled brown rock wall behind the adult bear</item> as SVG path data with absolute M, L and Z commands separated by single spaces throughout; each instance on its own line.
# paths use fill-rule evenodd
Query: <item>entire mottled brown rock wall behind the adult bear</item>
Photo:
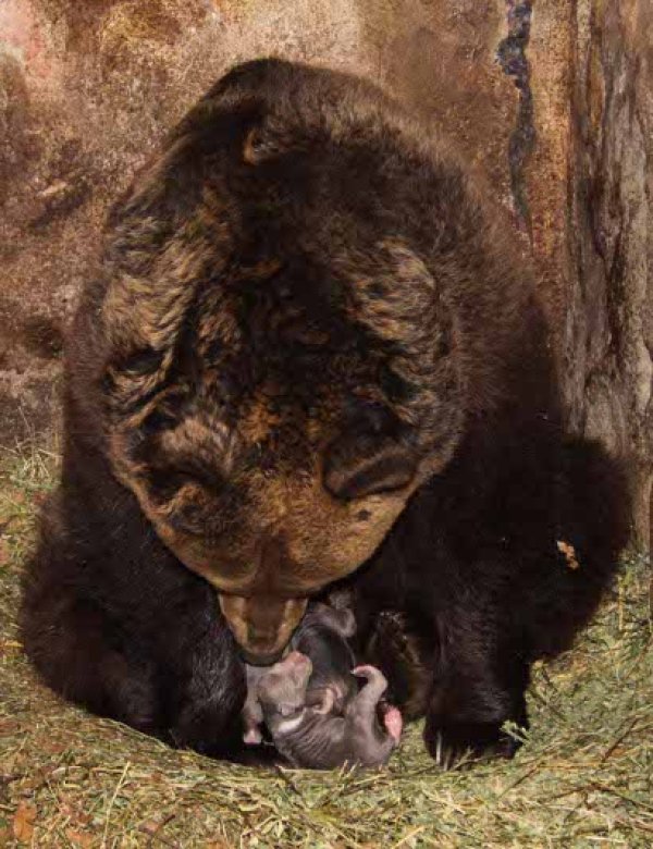
M 47 438 L 62 331 L 111 201 L 230 65 L 362 74 L 433 119 L 514 211 L 574 428 L 651 504 L 651 0 L 3 0 L 0 444 Z

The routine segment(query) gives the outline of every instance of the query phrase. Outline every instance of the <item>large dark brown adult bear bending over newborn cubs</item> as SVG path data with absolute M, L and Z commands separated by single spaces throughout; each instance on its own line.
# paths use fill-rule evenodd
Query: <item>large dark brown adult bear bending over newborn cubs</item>
M 361 654 L 430 751 L 509 753 L 530 664 L 589 619 L 628 513 L 563 432 L 510 242 L 369 84 L 274 60 L 222 78 L 114 209 L 69 340 L 24 588 L 46 681 L 236 756 L 239 653 L 273 661 L 365 564 Z

